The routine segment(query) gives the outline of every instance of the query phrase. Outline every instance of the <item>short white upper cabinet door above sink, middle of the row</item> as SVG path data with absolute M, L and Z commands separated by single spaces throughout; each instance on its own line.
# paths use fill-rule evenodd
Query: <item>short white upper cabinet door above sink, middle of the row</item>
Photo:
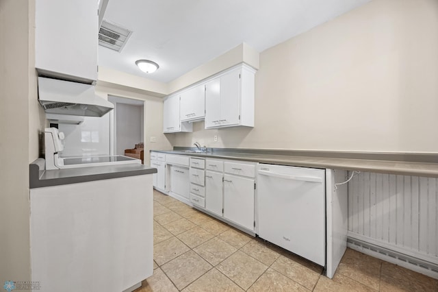
M 199 121 L 205 117 L 205 86 L 195 86 L 181 93 L 181 121 Z

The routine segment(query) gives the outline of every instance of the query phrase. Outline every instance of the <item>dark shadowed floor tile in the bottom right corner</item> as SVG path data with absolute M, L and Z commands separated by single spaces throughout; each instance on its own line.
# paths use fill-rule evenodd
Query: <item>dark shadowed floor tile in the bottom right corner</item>
M 381 291 L 438 291 L 438 280 L 383 262 Z

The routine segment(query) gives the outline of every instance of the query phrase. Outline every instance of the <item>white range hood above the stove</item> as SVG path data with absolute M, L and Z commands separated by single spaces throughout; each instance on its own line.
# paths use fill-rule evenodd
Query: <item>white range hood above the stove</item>
M 94 86 L 38 77 L 38 99 L 47 114 L 102 117 L 114 105 L 94 93 Z

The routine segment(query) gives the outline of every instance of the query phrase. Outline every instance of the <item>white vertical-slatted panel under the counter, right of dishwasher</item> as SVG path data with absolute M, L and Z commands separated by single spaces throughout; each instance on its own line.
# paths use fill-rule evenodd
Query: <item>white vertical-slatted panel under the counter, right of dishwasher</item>
M 438 179 L 360 173 L 348 183 L 348 231 L 438 259 Z

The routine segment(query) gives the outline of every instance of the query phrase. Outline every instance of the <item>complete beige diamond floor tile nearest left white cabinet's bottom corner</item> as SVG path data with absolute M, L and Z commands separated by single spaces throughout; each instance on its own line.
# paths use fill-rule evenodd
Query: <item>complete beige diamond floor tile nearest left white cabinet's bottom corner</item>
M 211 268 L 209 263 L 192 250 L 162 265 L 164 273 L 179 290 L 187 287 Z

